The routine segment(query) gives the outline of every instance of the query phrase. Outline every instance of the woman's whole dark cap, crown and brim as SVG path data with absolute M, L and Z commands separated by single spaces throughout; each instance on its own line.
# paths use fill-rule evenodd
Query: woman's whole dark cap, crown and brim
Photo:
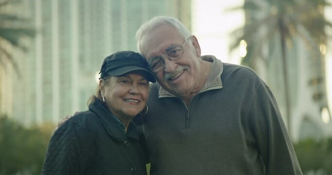
M 148 69 L 146 60 L 140 53 L 133 51 L 118 51 L 107 56 L 99 73 L 100 78 L 105 78 L 107 75 L 120 76 L 131 71 L 140 71 L 145 79 L 156 83 L 156 78 Z

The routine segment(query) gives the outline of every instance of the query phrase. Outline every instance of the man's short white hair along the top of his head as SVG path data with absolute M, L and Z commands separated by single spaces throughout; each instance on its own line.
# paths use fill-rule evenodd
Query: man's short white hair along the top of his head
M 192 35 L 188 29 L 176 18 L 163 16 L 154 17 L 143 23 L 139 30 L 136 32 L 137 50 L 140 52 L 140 54 L 143 55 L 146 50 L 146 48 L 144 48 L 146 43 L 142 43 L 143 36 L 145 34 L 149 34 L 150 31 L 162 25 L 171 25 L 179 32 L 181 36 L 183 36 L 184 39 L 188 39 Z

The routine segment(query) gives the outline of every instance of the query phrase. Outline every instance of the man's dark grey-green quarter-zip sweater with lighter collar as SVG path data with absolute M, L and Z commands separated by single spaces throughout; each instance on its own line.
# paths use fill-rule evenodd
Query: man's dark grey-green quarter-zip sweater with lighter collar
M 150 175 L 301 175 L 270 89 L 246 67 L 214 56 L 188 106 L 158 84 L 141 125 Z

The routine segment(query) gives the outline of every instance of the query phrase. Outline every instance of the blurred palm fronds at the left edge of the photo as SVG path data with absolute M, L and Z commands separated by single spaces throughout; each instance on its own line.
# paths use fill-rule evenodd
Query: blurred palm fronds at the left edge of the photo
M 15 14 L 3 13 L 3 10 L 10 4 L 9 0 L 0 2 L 0 66 L 6 68 L 9 62 L 19 75 L 17 62 L 13 58 L 12 50 L 8 48 L 27 51 L 27 47 L 20 44 L 22 37 L 33 37 L 35 30 L 29 27 L 29 19 L 18 17 Z

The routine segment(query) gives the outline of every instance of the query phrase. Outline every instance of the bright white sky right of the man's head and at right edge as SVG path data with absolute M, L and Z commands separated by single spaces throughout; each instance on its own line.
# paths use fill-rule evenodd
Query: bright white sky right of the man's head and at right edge
M 328 0 L 332 3 L 332 0 Z M 229 33 L 245 23 L 243 11 L 229 12 L 227 9 L 241 6 L 244 0 L 192 0 L 192 34 L 198 38 L 202 55 L 212 54 L 220 60 L 240 64 L 239 51 L 228 52 Z M 325 17 L 332 21 L 332 7 L 325 9 Z M 332 35 L 332 30 L 327 31 Z M 329 108 L 332 109 L 332 41 L 326 52 L 326 78 Z

